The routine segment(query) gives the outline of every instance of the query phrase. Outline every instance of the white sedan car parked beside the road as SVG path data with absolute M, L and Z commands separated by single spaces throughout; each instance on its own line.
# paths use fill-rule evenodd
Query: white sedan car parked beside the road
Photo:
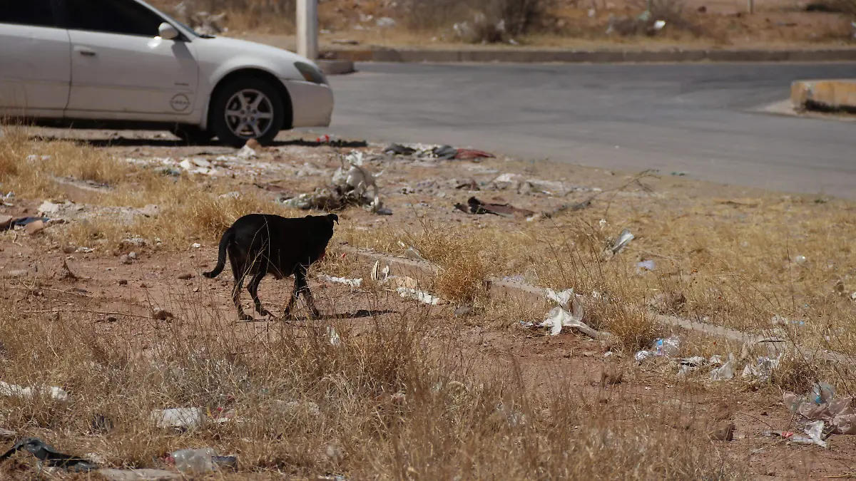
M 200 35 L 140 0 L 0 7 L 0 119 L 169 129 L 190 142 L 327 127 L 333 93 L 305 57 Z

